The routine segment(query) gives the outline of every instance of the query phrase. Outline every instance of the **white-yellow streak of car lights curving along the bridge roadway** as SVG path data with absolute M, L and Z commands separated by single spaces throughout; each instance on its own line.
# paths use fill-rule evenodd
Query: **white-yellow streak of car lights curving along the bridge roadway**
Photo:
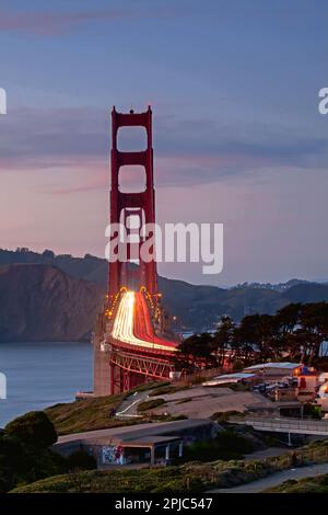
M 138 345 L 141 347 L 154 348 L 159 351 L 175 352 L 176 348 L 169 343 L 155 343 L 157 336 L 153 335 L 154 341 L 141 340 L 134 334 L 134 310 L 136 310 L 136 294 L 134 291 L 125 291 L 120 299 L 117 314 L 114 320 L 112 335 L 115 340 L 129 343 L 130 345 Z M 152 337 L 152 335 L 150 335 Z

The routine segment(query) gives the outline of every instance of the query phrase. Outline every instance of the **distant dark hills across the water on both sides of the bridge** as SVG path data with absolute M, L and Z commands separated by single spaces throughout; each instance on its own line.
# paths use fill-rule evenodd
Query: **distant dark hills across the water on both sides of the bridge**
M 105 260 L 0 250 L 0 341 L 87 339 L 107 284 Z M 290 302 L 328 300 L 328 285 L 293 279 L 290 287 L 243 284 L 235 288 L 196 286 L 159 278 L 164 307 L 183 330 L 210 329 L 222 314 L 239 320 L 273 313 Z

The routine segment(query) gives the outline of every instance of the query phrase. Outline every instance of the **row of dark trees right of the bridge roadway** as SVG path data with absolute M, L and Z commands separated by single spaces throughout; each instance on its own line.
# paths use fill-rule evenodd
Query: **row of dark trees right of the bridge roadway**
M 311 364 L 328 340 L 328 302 L 290 304 L 276 314 L 221 317 L 214 333 L 192 334 L 179 346 L 180 367 L 222 367 L 226 362 L 300 359 Z

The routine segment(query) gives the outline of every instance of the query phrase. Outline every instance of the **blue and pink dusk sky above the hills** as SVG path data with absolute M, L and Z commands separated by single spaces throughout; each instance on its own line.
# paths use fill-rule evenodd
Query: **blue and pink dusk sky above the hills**
M 27 10 L 28 7 L 28 10 Z M 1 0 L 0 247 L 104 256 L 110 110 L 153 110 L 156 216 L 224 224 L 218 286 L 328 279 L 326 0 Z

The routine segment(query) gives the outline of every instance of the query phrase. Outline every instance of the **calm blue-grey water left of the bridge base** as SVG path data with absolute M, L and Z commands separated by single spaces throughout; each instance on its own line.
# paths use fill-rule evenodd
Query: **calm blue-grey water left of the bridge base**
M 17 415 L 92 390 L 90 343 L 0 343 L 0 373 L 7 399 L 0 399 L 0 427 Z

